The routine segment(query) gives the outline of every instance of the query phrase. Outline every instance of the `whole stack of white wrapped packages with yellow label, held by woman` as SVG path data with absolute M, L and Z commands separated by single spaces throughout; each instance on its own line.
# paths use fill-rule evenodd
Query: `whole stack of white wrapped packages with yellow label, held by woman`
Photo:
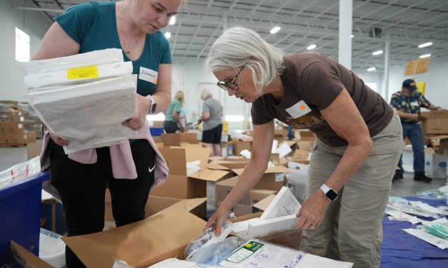
M 136 113 L 136 78 L 121 49 L 30 61 L 27 98 L 65 153 L 124 143 L 136 132 L 121 125 Z

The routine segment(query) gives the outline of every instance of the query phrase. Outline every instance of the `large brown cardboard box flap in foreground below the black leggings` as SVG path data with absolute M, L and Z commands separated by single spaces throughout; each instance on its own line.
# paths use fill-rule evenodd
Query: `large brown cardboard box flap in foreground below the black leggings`
M 114 259 L 136 268 L 148 267 L 183 256 L 186 244 L 202 232 L 205 224 L 199 217 L 174 207 L 130 225 L 63 240 L 86 267 L 110 268 Z

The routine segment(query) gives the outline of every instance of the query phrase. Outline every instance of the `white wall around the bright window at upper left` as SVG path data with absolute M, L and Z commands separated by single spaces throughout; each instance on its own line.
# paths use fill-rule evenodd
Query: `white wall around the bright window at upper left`
M 49 26 L 50 19 L 41 15 L 41 12 L 12 9 L 8 1 L 0 1 L 1 100 L 25 100 L 24 71 L 21 63 L 15 60 L 16 27 L 29 34 L 32 56 Z

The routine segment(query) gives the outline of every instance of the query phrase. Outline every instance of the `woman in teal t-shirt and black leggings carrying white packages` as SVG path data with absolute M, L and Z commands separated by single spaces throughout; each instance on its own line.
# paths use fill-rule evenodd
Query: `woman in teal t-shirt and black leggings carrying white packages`
M 139 137 L 149 136 L 149 128 L 143 128 L 148 125 L 146 115 L 166 110 L 171 100 L 171 50 L 169 41 L 159 29 L 169 24 L 181 2 L 91 1 L 72 6 L 56 18 L 31 59 L 121 48 L 124 61 L 132 61 L 133 73 L 138 74 L 136 115 L 123 125 L 139 131 Z M 122 155 L 114 155 L 117 151 L 112 150 L 113 146 L 110 149 L 92 149 L 90 158 L 78 162 L 64 153 L 62 146 L 68 145 L 68 140 L 54 133 L 49 135 L 51 139 L 43 152 L 49 151 L 51 185 L 61 197 L 68 236 L 103 230 L 106 185 L 109 185 L 111 192 L 117 227 L 144 219 L 146 200 L 154 185 L 157 159 L 157 149 L 151 146 L 149 140 L 132 140 Z M 125 160 L 124 165 L 129 170 L 127 173 L 131 175 L 128 176 L 123 170 L 121 174 L 126 175 L 117 175 L 113 165 L 117 158 Z M 66 267 L 84 267 L 68 247 Z

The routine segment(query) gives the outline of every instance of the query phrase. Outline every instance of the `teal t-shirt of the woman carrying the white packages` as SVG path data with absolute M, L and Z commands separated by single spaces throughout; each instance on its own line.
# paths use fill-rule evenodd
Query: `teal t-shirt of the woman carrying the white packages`
M 71 6 L 56 18 L 64 31 L 81 46 L 79 53 L 106 48 L 120 48 L 116 29 L 115 2 L 90 2 Z M 124 61 L 131 61 L 123 52 Z M 148 96 L 154 93 L 156 84 L 143 80 L 142 73 L 159 71 L 159 64 L 171 64 L 169 42 L 161 31 L 146 34 L 143 53 L 132 61 L 134 74 L 139 75 L 137 93 Z M 153 72 L 151 72 L 153 73 Z

